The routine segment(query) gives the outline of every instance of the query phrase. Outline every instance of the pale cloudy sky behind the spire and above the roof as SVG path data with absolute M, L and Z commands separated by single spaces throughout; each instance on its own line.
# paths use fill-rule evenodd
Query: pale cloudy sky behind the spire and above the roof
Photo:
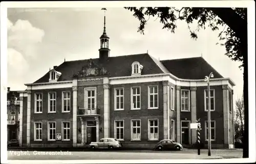
M 98 58 L 103 32 L 104 11 L 101 8 L 8 8 L 8 86 L 24 90 L 45 75 L 49 68 L 65 59 Z M 220 31 L 206 28 L 198 39 L 190 38 L 187 25 L 177 22 L 175 33 L 162 29 L 159 20 L 151 17 L 145 35 L 137 32 L 139 20 L 124 8 L 107 8 L 106 33 L 110 37 L 110 56 L 146 53 L 160 60 L 202 56 L 223 77 L 231 78 L 234 100 L 243 93 L 243 72 L 240 62 L 225 56 Z M 195 26 L 191 27 L 195 29 Z M 205 75 L 207 76 L 207 75 Z

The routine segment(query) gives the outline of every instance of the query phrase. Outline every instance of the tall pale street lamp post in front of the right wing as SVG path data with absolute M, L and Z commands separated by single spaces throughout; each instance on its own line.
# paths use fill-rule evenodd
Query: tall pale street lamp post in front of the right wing
M 205 76 L 204 81 L 208 85 L 208 156 L 211 155 L 211 134 L 210 134 L 210 78 L 214 78 L 214 74 L 210 73 L 209 76 Z

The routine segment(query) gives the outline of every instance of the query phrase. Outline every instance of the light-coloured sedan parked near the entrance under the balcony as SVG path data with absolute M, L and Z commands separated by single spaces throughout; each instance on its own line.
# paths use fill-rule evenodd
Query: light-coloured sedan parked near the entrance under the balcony
M 99 140 L 99 142 L 92 142 L 89 146 L 91 149 L 97 149 L 97 148 L 115 149 L 115 148 L 122 147 L 120 142 L 115 138 L 102 138 Z

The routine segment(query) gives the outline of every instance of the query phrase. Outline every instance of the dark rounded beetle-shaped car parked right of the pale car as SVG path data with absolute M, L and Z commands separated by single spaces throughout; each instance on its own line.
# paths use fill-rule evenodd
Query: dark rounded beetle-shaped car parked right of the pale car
M 175 143 L 170 139 L 163 139 L 154 147 L 155 150 L 181 150 L 183 146 L 180 143 Z

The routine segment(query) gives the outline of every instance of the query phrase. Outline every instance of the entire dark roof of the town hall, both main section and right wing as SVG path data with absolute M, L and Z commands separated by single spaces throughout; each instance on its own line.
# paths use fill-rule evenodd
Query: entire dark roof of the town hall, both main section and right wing
M 202 57 L 183 58 L 159 61 L 148 54 L 135 54 L 126 56 L 109 57 L 108 60 L 85 59 L 65 61 L 55 68 L 61 73 L 58 81 L 71 81 L 73 75 L 81 71 L 82 67 L 92 60 L 99 67 L 104 67 L 110 73 L 110 77 L 131 76 L 132 63 L 138 61 L 143 65 L 141 75 L 168 74 L 171 73 L 180 79 L 204 79 L 211 72 L 215 78 L 223 78 Z M 34 83 L 49 82 L 49 71 Z

